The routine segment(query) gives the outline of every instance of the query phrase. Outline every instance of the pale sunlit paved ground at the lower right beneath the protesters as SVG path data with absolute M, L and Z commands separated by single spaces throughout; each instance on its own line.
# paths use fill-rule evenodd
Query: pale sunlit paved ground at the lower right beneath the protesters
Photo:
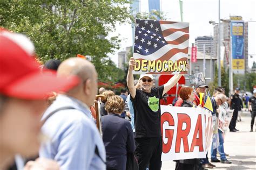
M 224 150 L 230 154 L 227 157 L 233 164 L 216 165 L 213 169 L 256 169 L 256 128 L 250 131 L 251 117 L 249 112 L 243 112 L 242 121 L 237 123 L 238 132 L 227 132 Z M 210 153 L 208 154 L 210 156 Z M 175 162 L 163 161 L 162 170 L 175 169 Z

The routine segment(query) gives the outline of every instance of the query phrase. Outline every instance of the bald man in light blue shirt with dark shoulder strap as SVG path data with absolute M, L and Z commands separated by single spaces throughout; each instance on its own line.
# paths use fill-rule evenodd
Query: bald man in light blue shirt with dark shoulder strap
M 42 120 L 60 109 L 42 126 L 51 140 L 41 146 L 39 156 L 56 160 L 60 169 L 105 169 L 105 147 L 88 108 L 97 94 L 95 67 L 84 59 L 70 58 L 62 62 L 57 75 L 76 75 L 81 81 L 59 94 L 44 112 Z

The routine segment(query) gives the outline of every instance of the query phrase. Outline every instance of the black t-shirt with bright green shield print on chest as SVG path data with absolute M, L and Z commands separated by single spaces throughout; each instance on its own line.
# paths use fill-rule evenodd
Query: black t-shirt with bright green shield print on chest
M 131 97 L 134 105 L 135 138 L 161 137 L 160 99 L 164 86 L 154 87 L 150 93 L 136 89 L 135 98 Z

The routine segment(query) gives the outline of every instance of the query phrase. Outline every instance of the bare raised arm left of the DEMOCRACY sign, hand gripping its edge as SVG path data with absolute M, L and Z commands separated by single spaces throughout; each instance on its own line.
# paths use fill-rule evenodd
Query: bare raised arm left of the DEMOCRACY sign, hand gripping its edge
M 134 79 L 133 79 L 133 74 L 132 74 L 132 70 L 135 66 L 135 60 L 134 58 L 131 58 L 130 61 L 129 61 L 129 69 L 128 69 L 128 74 L 127 74 L 127 86 L 128 86 L 128 89 L 130 91 L 130 94 L 131 94 L 131 97 L 132 98 L 135 98 L 135 95 L 136 95 L 136 88 L 133 84 L 134 82 Z

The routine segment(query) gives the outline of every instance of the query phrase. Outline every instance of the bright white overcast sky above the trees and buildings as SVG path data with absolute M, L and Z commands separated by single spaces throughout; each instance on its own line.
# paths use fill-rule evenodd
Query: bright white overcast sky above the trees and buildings
M 148 12 L 148 1 L 141 1 L 141 11 Z M 218 0 L 183 0 L 183 21 L 190 23 L 190 46 L 198 36 L 213 36 L 213 25 L 210 20 L 218 23 Z M 167 20 L 181 21 L 179 0 L 160 0 L 161 11 L 166 15 Z M 242 16 L 242 19 L 250 22 L 248 53 L 256 54 L 256 1 L 255 0 L 220 0 L 220 18 L 228 19 L 229 16 Z M 121 48 L 111 55 L 112 60 L 117 64 L 117 53 L 125 47 L 132 45 L 131 25 L 117 25 L 116 32 L 110 36 L 118 35 L 122 39 Z M 256 61 L 256 55 L 249 58 L 250 66 Z

